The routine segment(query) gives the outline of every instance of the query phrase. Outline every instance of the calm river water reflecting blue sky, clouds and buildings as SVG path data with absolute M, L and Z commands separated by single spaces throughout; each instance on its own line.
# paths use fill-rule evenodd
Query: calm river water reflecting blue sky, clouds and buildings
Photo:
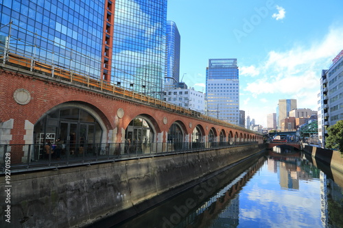
M 342 173 L 276 149 L 113 228 L 343 227 L 342 187 Z

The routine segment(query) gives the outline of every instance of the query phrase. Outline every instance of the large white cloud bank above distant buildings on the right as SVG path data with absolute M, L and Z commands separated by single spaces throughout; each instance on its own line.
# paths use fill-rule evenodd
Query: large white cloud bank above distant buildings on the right
M 279 99 L 297 99 L 299 108 L 317 110 L 321 71 L 329 68 L 343 49 L 342 37 L 343 27 L 331 27 L 321 40 L 287 51 L 270 51 L 265 62 L 245 66 L 242 73 L 246 73 L 247 84 L 241 83 L 241 110 L 250 110 L 250 117 L 263 126 Z

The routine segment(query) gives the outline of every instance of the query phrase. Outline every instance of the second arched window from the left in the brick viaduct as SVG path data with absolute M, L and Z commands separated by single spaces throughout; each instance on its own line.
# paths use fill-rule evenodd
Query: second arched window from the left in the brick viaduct
M 154 129 L 145 118 L 134 118 L 126 128 L 125 141 L 125 153 L 151 153 Z

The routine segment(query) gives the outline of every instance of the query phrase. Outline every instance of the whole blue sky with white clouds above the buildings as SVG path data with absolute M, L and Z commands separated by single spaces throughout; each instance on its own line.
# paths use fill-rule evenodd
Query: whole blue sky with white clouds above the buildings
M 169 0 L 180 79 L 203 90 L 211 58 L 237 58 L 239 103 L 266 127 L 279 99 L 317 110 L 322 69 L 343 49 L 343 1 Z

